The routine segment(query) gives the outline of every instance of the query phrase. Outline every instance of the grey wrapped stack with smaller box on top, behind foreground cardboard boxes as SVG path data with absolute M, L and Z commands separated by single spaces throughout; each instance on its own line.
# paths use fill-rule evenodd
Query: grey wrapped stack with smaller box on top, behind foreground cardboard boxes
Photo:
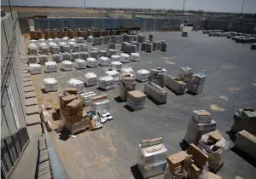
M 193 111 L 192 118 L 189 120 L 187 132 L 183 140 L 188 144 L 197 144 L 202 135 L 216 130 L 216 126 L 217 123 L 212 120 L 211 113 L 205 110 Z

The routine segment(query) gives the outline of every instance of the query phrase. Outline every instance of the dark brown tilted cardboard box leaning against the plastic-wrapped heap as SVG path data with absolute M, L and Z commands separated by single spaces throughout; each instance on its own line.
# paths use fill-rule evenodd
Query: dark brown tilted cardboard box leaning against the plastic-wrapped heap
M 208 155 L 203 153 L 199 147 L 196 147 L 194 143 L 189 145 L 189 149 L 187 151 L 188 154 L 193 155 L 193 159 L 195 163 L 201 167 L 206 165 Z

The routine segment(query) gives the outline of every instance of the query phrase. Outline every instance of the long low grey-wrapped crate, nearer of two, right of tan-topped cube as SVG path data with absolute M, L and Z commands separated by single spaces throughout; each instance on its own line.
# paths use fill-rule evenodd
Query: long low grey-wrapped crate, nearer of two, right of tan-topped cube
M 158 84 L 149 82 L 144 85 L 144 93 L 158 104 L 166 103 L 167 91 Z

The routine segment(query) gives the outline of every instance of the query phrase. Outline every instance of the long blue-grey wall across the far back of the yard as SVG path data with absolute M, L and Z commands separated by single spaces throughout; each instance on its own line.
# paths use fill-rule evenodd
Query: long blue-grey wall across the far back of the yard
M 140 27 L 141 31 L 178 31 L 181 20 L 158 20 L 158 19 L 102 19 L 102 18 L 47 18 L 34 19 L 36 29 L 71 29 L 96 27 L 99 29 L 126 27 Z

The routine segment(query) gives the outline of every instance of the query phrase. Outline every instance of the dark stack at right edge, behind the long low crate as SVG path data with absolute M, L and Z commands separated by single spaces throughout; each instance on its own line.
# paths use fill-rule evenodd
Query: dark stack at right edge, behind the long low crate
M 234 114 L 233 118 L 234 124 L 231 127 L 232 131 L 237 133 L 241 130 L 247 130 L 247 132 L 256 136 L 256 112 L 254 112 L 253 108 L 246 107 L 239 109 L 238 112 Z

